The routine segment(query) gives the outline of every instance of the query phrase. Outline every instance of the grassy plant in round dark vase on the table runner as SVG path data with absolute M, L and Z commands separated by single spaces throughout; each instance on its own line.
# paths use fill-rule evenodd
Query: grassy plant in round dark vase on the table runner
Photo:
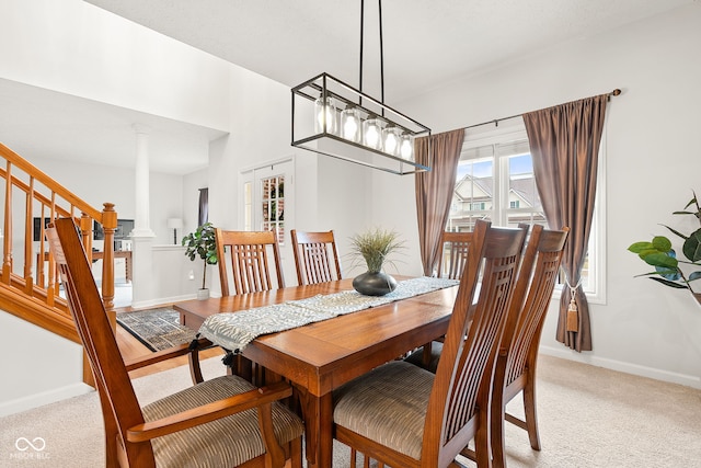
M 390 255 L 404 247 L 395 231 L 386 229 L 369 229 L 350 238 L 350 254 L 353 266 L 361 261 L 367 265 L 367 272 L 353 279 L 353 287 L 366 296 L 383 296 L 397 288 L 397 279 L 384 273 L 386 263 L 394 264 Z

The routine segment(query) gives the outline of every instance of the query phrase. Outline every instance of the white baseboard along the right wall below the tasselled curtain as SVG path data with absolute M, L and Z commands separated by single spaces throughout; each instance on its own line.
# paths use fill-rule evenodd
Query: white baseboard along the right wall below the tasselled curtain
M 671 373 L 669 370 L 641 366 L 639 364 L 631 364 L 622 361 L 609 359 L 606 357 L 591 356 L 588 354 L 577 353 L 576 351 L 572 351 L 570 349 L 556 349 L 541 345 L 539 352 L 548 356 L 561 357 L 563 359 L 575 361 L 583 364 L 590 364 L 593 366 L 604 367 L 606 369 L 701 389 L 701 377 L 699 376 Z

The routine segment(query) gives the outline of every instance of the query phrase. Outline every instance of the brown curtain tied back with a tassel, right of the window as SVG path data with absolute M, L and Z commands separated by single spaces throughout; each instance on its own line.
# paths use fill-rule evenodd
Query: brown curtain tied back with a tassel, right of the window
M 567 287 L 556 339 L 591 351 L 589 306 L 579 278 L 589 242 L 597 164 L 608 94 L 524 114 L 536 185 L 551 228 L 570 227 L 562 259 Z

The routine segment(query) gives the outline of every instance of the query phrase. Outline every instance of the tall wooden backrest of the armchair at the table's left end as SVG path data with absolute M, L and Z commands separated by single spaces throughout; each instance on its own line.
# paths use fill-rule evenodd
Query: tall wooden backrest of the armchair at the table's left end
M 122 440 L 126 441 L 127 429 L 143 423 L 143 414 L 134 393 L 77 227 L 70 218 L 56 219 L 54 226 L 46 230 L 46 237 L 95 378 L 105 429 L 116 429 Z M 107 444 L 111 443 L 116 444 L 117 441 L 107 441 Z M 126 450 L 129 456 L 153 460 L 149 441 L 128 444 Z

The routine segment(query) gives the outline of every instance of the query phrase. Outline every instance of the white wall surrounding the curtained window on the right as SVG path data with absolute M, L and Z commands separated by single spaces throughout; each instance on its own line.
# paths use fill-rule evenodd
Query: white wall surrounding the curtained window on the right
M 659 224 L 681 226 L 671 212 L 683 208 L 691 190 L 701 193 L 699 24 L 701 3 L 693 3 L 397 104 L 438 133 L 622 89 L 606 123 L 607 300 L 590 307 L 594 351 L 575 353 L 554 340 L 552 308 L 542 351 L 697 388 L 701 307 L 683 292 L 634 278 L 648 269 L 627 248 L 665 235 Z M 413 187 L 400 185 L 401 195 L 386 189 L 384 174 L 375 175 L 375 196 L 388 203 L 374 218 L 416 238 L 404 207 Z

